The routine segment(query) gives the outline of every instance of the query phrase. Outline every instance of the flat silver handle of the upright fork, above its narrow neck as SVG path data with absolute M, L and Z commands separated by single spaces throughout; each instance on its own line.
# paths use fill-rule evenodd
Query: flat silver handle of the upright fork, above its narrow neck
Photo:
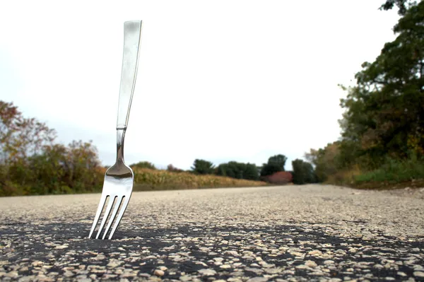
M 117 129 L 126 129 L 128 125 L 129 110 L 136 86 L 140 47 L 141 20 L 124 22 L 124 55 L 119 88 Z

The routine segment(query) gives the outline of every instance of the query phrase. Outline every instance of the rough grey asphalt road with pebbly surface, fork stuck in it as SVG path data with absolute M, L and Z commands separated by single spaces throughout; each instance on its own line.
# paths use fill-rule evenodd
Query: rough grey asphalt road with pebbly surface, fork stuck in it
M 424 189 L 422 189 L 424 190 Z M 324 185 L 0 198 L 1 281 L 424 281 L 424 191 Z

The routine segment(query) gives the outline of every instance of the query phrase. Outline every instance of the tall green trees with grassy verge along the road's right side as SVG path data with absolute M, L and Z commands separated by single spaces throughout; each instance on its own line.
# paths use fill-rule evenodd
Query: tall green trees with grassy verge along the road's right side
M 305 154 L 320 182 L 424 178 L 424 2 L 388 0 L 381 8 L 394 7 L 396 39 L 362 64 L 355 86 L 341 86 L 341 138 Z

